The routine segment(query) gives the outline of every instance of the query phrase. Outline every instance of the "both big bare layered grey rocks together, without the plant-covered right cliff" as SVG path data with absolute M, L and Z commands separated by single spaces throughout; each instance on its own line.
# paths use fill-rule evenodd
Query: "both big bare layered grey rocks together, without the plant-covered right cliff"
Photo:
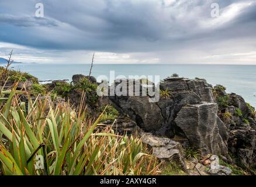
M 125 92 L 129 93 L 130 87 Z M 203 80 L 167 78 L 160 89 L 168 90 L 171 96 L 149 102 L 150 96 L 143 96 L 143 85 L 140 85 L 140 92 L 133 92 L 139 93 L 137 96 L 109 98 L 121 113 L 129 115 L 146 132 L 187 138 L 191 146 L 202 148 L 203 154 L 227 154 L 227 130 L 217 117 L 212 86 Z

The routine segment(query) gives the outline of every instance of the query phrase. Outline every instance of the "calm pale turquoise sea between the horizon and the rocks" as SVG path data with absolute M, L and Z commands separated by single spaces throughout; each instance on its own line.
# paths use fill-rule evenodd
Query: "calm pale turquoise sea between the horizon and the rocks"
M 15 64 L 15 70 L 26 71 L 40 80 L 71 79 L 74 74 L 89 74 L 89 64 Z M 106 75 L 160 75 L 161 79 L 174 72 L 179 77 L 205 78 L 212 85 L 226 86 L 227 92 L 244 97 L 256 106 L 256 65 L 171 65 L 171 64 L 95 64 L 92 76 Z

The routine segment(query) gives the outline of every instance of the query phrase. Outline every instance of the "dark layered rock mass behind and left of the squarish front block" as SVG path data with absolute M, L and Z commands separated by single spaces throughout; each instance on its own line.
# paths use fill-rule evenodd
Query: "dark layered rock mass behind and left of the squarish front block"
M 133 96 L 128 96 L 130 86 L 127 86 L 126 96 L 109 96 L 110 101 L 121 113 L 129 115 L 138 126 L 147 131 L 158 134 L 159 136 L 174 137 L 175 124 L 173 123 L 175 116 L 187 103 L 200 103 L 202 99 L 198 93 L 194 92 L 187 85 L 188 79 L 169 78 L 160 85 L 161 89 L 171 91 L 171 98 L 160 98 L 159 102 L 149 102 L 150 96 L 143 95 L 143 85 L 140 85 L 140 91 L 136 92 L 133 88 Z M 202 81 L 203 83 L 203 81 Z M 121 85 L 116 84 L 117 85 Z M 136 82 L 134 82 L 134 85 Z M 140 83 L 139 83 L 140 84 Z M 132 86 L 134 86 L 132 85 Z M 208 88 L 205 85 L 205 88 Z M 137 94 L 137 96 L 136 96 Z

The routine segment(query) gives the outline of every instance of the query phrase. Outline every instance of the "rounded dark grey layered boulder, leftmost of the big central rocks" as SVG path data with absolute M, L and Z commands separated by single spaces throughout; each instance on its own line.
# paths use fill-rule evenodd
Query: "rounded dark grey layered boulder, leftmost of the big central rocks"
M 139 90 L 135 88 L 136 85 L 139 85 Z M 161 128 L 164 123 L 161 108 L 157 103 L 149 102 L 150 96 L 143 94 L 145 87 L 140 84 L 140 81 L 133 80 L 132 84 L 127 84 L 127 81 L 123 80 L 119 84 L 110 86 L 110 90 L 113 86 L 122 88 L 122 95 L 109 96 L 112 105 L 120 113 L 129 115 L 145 131 L 156 131 Z

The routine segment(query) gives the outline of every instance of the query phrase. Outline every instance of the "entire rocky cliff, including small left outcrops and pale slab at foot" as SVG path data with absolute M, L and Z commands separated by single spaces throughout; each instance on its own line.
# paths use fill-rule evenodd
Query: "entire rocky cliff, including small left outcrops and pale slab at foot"
M 79 106 L 81 102 L 81 88 L 88 87 L 85 85 L 88 82 L 82 82 L 81 88 L 75 86 L 80 85 L 84 78 L 83 75 L 74 75 L 73 83 L 68 87 L 66 99 L 74 106 Z M 92 77 L 91 82 L 95 82 L 95 78 Z M 122 84 L 126 85 L 126 82 L 112 86 Z M 134 88 L 136 84 L 140 86 L 139 91 Z M 57 86 L 54 82 L 51 85 L 49 89 Z M 124 85 L 121 87 L 124 88 Z M 200 150 L 202 157 L 219 155 L 230 164 L 250 171 L 255 169 L 255 109 L 241 96 L 226 93 L 220 85 L 213 88 L 204 79 L 166 78 L 160 84 L 160 100 L 149 102 L 151 96 L 142 93 L 145 86 L 141 81 L 134 80 L 122 92 L 128 95 L 133 88 L 133 95 L 137 96 L 113 95 L 103 99 L 104 102 L 99 97 L 98 106 L 110 101 L 120 113 L 114 125 L 112 120 L 104 124 L 113 125 L 117 133 L 131 134 L 142 130 L 146 136 L 143 141 L 153 148 L 155 156 L 178 160 L 182 168 L 186 166 L 181 146 Z M 84 106 L 89 105 L 89 101 L 85 97 Z M 203 167 L 199 165 L 199 168 Z

